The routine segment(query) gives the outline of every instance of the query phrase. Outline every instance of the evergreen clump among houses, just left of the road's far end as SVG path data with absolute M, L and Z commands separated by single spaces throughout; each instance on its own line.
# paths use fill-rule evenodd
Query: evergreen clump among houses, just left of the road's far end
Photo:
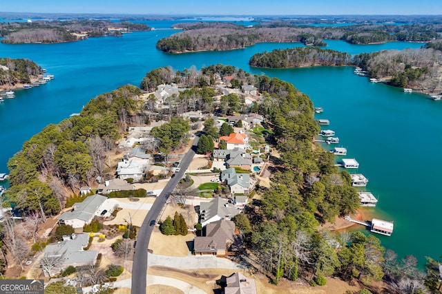
M 189 132 L 189 122 L 181 117 L 172 117 L 170 123 L 154 127 L 151 135 L 160 141 L 160 151 L 169 154 L 173 148 L 180 145 L 187 132 Z

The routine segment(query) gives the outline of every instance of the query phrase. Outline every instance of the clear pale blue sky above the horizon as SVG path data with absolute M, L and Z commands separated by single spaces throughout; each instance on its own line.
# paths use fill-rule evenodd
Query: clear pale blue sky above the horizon
M 161 15 L 442 14 L 441 0 L 0 0 L 1 12 Z

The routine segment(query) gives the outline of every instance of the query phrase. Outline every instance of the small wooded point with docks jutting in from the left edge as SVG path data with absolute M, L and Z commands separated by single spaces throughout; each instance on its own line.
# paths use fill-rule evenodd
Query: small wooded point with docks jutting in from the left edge
M 43 74 L 41 67 L 29 59 L 0 58 L 0 65 L 0 87 L 30 83 L 31 78 L 38 78 Z

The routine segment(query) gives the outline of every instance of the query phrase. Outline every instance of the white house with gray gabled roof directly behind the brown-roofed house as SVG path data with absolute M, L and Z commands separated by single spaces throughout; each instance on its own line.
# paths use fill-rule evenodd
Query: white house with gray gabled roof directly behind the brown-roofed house
M 209 202 L 200 204 L 200 224 L 206 224 L 217 220 L 230 220 L 239 213 L 238 209 L 224 198 L 214 198 Z

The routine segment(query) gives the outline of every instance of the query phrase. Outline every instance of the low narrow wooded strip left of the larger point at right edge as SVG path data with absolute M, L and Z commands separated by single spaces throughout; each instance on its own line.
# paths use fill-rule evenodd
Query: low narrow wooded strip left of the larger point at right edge
M 320 48 L 290 48 L 257 53 L 251 56 L 249 65 L 256 67 L 305 67 L 314 65 L 348 65 L 352 56 Z

